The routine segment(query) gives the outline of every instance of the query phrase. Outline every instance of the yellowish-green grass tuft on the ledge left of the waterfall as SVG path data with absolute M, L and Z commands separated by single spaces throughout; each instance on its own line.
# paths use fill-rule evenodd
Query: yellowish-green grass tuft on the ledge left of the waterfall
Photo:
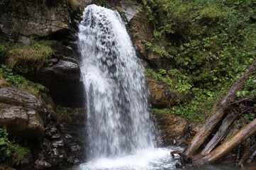
M 31 42 L 31 45 L 13 45 L 9 50 L 9 67 L 30 66 L 40 69 L 48 62 L 54 50 L 49 46 L 48 41 Z

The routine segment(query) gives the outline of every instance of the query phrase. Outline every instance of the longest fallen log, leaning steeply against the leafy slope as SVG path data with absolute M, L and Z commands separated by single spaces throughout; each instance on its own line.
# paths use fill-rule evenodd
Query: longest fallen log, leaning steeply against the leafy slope
M 235 94 L 242 89 L 245 81 L 252 75 L 255 70 L 255 62 L 254 60 L 250 65 L 245 75 L 241 77 L 238 81 L 233 84 L 233 86 L 228 91 L 228 94 L 223 98 L 218 107 L 213 110 L 211 115 L 206 120 L 206 123 L 201 127 L 201 129 L 196 133 L 193 137 L 187 149 L 184 150 L 184 154 L 192 155 L 196 152 L 196 150 L 204 143 L 207 137 L 211 134 L 216 125 L 222 120 L 223 115 L 225 114 L 226 108 L 228 108 L 229 104 L 235 98 Z

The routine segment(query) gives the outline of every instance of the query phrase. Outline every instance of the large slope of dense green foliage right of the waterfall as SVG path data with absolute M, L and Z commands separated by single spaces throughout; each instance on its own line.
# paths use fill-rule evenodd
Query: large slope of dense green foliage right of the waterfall
M 204 121 L 219 94 L 225 94 L 255 60 L 256 1 L 142 0 L 154 26 L 145 47 L 172 58 L 176 69 L 147 69 L 148 76 L 187 96 L 172 113 Z M 165 49 L 159 46 L 165 38 Z M 255 78 L 237 96 L 255 96 Z

